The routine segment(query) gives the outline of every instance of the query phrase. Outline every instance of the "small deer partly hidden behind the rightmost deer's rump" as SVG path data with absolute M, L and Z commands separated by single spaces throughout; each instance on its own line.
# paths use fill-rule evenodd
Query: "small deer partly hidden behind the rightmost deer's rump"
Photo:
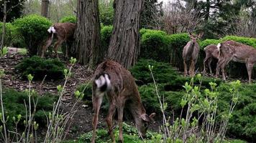
M 211 61 L 213 58 L 218 59 L 219 56 L 219 51 L 217 49 L 217 46 L 214 44 L 210 44 L 204 48 L 204 51 L 206 52 L 206 58 L 204 58 L 204 73 L 206 73 L 206 64 L 208 64 L 208 67 L 210 69 L 210 73 L 212 74 L 211 71 Z

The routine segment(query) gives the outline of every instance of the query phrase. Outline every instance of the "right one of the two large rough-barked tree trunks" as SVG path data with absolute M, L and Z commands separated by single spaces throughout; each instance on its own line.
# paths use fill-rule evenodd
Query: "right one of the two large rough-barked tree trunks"
M 109 58 L 129 68 L 140 52 L 140 17 L 144 0 L 115 0 Z

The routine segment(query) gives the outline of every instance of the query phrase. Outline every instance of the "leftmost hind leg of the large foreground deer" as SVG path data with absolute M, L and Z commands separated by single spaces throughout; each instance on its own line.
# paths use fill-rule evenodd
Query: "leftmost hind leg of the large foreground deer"
M 92 143 L 95 143 L 96 137 L 96 128 L 98 124 L 98 117 L 99 117 L 99 109 L 101 107 L 102 97 L 94 97 L 93 96 L 93 109 L 94 109 L 94 116 L 93 116 L 93 137 L 91 139 Z

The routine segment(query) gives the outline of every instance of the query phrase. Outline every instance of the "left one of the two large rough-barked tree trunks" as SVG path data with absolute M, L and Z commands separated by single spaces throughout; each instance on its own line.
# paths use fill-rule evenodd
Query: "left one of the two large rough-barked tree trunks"
M 104 51 L 100 46 L 98 0 L 78 0 L 76 24 L 76 57 L 81 64 L 91 68 L 99 64 Z

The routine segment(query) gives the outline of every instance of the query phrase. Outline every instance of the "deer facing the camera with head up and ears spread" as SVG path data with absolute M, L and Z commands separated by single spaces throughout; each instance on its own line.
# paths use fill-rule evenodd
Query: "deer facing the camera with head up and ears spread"
M 189 76 L 193 77 L 195 71 L 195 65 L 198 58 L 199 53 L 199 44 L 197 43 L 197 39 L 200 39 L 203 36 L 203 32 L 198 35 L 194 35 L 189 33 L 191 41 L 188 41 L 186 46 L 183 48 L 183 64 L 184 64 L 184 76 L 187 75 L 187 64 L 190 64 L 189 67 Z

